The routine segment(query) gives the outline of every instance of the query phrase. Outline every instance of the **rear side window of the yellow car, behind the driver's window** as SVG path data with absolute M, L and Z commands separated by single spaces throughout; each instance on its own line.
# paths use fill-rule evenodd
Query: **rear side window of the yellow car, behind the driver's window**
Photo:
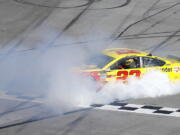
M 165 64 L 164 61 L 155 58 L 143 57 L 142 59 L 143 67 L 157 67 Z

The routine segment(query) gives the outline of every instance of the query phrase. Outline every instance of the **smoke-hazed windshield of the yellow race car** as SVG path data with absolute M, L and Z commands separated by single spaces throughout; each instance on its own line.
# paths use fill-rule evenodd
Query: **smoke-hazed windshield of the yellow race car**
M 107 55 L 96 55 L 91 57 L 86 61 L 87 65 L 95 65 L 96 68 L 103 68 L 109 62 L 111 62 L 114 58 Z

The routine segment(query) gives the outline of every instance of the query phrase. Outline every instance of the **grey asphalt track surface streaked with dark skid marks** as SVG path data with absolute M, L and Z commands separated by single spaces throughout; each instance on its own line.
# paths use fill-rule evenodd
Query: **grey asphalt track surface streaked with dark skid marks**
M 25 76 L 19 74 L 17 66 L 26 59 L 16 59 L 23 54 L 35 64 L 27 60 L 22 67 L 37 69 L 36 59 L 49 50 L 93 47 L 127 47 L 180 57 L 179 0 L 0 0 L 0 18 L 0 135 L 180 134 L 178 94 L 130 99 L 125 111 L 114 103 L 106 109 L 94 105 L 54 112 L 41 101 L 46 86 L 38 86 L 38 74 L 33 74 L 31 88 L 27 83 L 31 79 L 23 81 L 31 74 L 23 69 L 19 70 Z M 148 111 L 137 113 L 137 107 Z M 164 107 L 155 110 L 160 115 L 152 112 Z

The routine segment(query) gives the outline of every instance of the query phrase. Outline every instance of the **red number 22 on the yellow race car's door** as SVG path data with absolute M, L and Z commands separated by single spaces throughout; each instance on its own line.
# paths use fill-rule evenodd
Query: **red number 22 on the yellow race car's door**
M 117 80 L 126 80 L 129 75 L 135 75 L 135 77 L 140 77 L 141 71 L 140 70 L 131 70 L 128 71 L 118 71 L 117 72 Z

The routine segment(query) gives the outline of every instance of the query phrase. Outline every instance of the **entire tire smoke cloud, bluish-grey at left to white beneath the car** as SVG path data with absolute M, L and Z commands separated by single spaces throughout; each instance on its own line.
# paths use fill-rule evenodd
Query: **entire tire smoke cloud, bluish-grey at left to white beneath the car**
M 43 97 L 49 107 L 61 112 L 80 105 L 155 98 L 180 92 L 180 85 L 170 82 L 168 76 L 159 71 L 150 71 L 141 79 L 129 78 L 128 83 L 109 82 L 97 92 L 97 84 L 76 72 L 75 67 L 106 48 L 106 44 L 99 44 L 100 47 L 93 42 L 13 52 L 1 61 L 0 89 L 16 96 Z

